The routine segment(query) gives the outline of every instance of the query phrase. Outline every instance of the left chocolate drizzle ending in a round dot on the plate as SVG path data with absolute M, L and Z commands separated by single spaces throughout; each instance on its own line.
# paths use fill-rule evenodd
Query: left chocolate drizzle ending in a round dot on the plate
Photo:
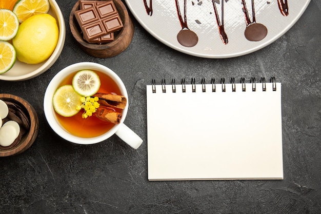
M 177 41 L 180 45 L 185 47 L 193 47 L 198 42 L 198 37 L 196 33 L 190 30 L 187 26 L 187 18 L 186 18 L 186 0 L 184 0 L 184 20 L 182 14 L 180 13 L 180 8 L 178 4 L 178 0 L 175 0 L 176 11 L 178 15 L 178 20 L 180 26 L 182 26 L 182 30 L 180 30 L 177 34 Z

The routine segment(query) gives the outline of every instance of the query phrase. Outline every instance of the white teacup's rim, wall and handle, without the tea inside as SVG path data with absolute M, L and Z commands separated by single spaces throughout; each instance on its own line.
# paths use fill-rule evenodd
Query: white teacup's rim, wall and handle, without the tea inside
M 81 138 L 77 137 L 70 132 L 68 132 L 62 125 L 58 122 L 55 114 L 55 110 L 52 105 L 52 97 L 56 89 L 58 88 L 59 84 L 71 73 L 74 73 L 75 71 L 84 70 L 84 69 L 91 69 L 103 72 L 107 74 L 109 77 L 113 79 L 113 81 L 117 84 L 118 88 L 121 90 L 121 93 L 123 96 L 127 98 L 128 101 L 128 94 L 127 90 L 125 88 L 125 85 L 123 81 L 119 78 L 119 76 L 113 72 L 111 69 L 107 68 L 106 66 L 103 66 L 101 64 L 92 63 L 92 62 L 83 62 L 83 63 L 76 63 L 73 65 L 70 65 L 63 70 L 59 71 L 53 79 L 50 81 L 47 90 L 45 92 L 44 96 L 44 112 L 46 119 L 50 125 L 50 127 L 55 131 L 60 137 L 63 139 L 76 143 L 76 144 L 94 144 L 102 142 L 108 138 L 110 138 L 113 134 L 116 134 L 119 138 L 121 138 L 124 142 L 126 142 L 128 145 L 133 147 L 134 149 L 137 149 L 143 142 L 143 140 L 130 128 L 128 128 L 124 124 L 124 120 L 127 115 L 128 111 L 128 102 L 126 104 L 126 107 L 123 109 L 123 116 L 121 119 L 121 122 L 119 124 L 115 124 L 110 130 L 108 130 L 106 133 L 99 135 L 97 137 L 92 138 Z M 86 120 L 86 119 L 84 119 Z

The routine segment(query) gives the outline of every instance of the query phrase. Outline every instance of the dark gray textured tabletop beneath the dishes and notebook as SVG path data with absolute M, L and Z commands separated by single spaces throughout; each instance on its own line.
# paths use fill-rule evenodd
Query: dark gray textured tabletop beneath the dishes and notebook
M 200 59 L 158 42 L 133 18 L 130 46 L 97 59 L 77 46 L 69 29 L 75 0 L 58 0 L 66 43 L 44 74 L 23 82 L 0 81 L 0 93 L 30 102 L 39 134 L 24 153 L 0 158 L 0 213 L 321 213 L 321 3 L 312 0 L 299 21 L 276 42 L 233 59 Z M 96 62 L 124 81 L 127 126 L 144 143 L 137 150 L 113 136 L 90 146 L 59 138 L 43 112 L 52 77 L 77 62 Z M 147 179 L 146 85 L 152 79 L 276 76 L 282 82 L 284 180 L 167 181 Z M 245 120 L 250 120 L 244 115 Z

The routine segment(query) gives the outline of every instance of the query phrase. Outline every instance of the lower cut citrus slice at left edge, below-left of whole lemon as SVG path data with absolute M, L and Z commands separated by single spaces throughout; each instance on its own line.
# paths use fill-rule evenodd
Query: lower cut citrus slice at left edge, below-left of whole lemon
M 5 41 L 0 41 L 0 74 L 7 72 L 15 63 L 14 47 Z

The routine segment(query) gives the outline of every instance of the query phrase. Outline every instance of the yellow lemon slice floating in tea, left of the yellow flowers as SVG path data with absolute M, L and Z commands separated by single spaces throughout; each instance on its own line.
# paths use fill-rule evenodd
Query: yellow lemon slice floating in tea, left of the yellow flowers
M 79 112 L 77 106 L 83 104 L 81 98 L 82 96 L 75 92 L 72 85 L 64 85 L 54 92 L 52 105 L 58 114 L 70 117 Z

